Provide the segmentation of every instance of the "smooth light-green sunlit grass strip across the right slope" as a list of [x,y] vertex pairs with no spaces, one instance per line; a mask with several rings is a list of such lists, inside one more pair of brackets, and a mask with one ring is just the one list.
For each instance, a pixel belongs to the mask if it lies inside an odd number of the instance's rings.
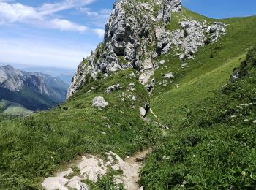
[[179,126],[186,117],[187,110],[197,107],[197,104],[204,99],[214,96],[215,91],[227,83],[233,69],[244,57],[241,55],[233,58],[217,69],[152,99],[151,107],[154,113],[168,126]]

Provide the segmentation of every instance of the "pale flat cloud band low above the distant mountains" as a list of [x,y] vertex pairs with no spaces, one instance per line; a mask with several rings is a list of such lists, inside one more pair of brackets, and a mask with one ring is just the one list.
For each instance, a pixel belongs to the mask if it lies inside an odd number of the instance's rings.
[[53,45],[31,39],[0,39],[0,62],[75,69],[94,45]]

